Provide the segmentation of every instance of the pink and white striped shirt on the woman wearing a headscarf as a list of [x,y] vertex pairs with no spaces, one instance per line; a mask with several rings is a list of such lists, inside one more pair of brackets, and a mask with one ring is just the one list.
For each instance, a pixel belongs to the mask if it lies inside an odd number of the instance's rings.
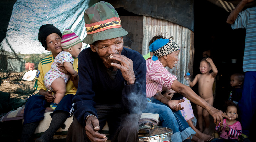
[[146,60],[147,74],[146,74],[146,93],[147,98],[153,97],[157,90],[162,91],[162,86],[170,89],[176,76],[172,75],[163,64],[159,61],[153,61],[152,58]]

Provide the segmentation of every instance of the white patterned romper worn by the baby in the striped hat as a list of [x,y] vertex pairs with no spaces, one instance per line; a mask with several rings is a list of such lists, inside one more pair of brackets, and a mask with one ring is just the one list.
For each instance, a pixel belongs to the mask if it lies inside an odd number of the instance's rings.
[[72,58],[72,55],[69,52],[60,52],[56,58],[54,59],[51,69],[45,74],[44,76],[44,85],[48,90],[54,91],[51,88],[52,82],[56,78],[62,78],[65,83],[67,83],[68,79],[70,78],[70,75],[67,75],[61,71],[58,70],[57,62],[64,63],[64,62],[71,62],[73,64],[74,59]]

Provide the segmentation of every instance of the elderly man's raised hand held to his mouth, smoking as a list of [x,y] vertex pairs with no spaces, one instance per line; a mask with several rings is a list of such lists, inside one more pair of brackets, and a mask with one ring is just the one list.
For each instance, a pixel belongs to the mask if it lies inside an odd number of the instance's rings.
[[133,62],[131,59],[125,57],[124,55],[119,55],[119,54],[111,54],[109,56],[111,60],[116,60],[119,62],[117,63],[111,63],[111,65],[114,68],[118,68],[121,70],[122,75],[124,79],[127,81],[127,84],[134,84],[135,82],[135,75],[133,71]]

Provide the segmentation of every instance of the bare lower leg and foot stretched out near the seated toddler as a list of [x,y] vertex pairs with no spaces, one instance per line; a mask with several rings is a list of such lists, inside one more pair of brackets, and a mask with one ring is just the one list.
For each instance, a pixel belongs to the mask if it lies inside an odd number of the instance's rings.
[[204,141],[211,141],[214,138],[211,135],[204,134],[200,132],[198,129],[196,129],[191,119],[189,119],[187,122],[189,126],[196,132],[196,134],[192,137],[192,141],[204,142]]

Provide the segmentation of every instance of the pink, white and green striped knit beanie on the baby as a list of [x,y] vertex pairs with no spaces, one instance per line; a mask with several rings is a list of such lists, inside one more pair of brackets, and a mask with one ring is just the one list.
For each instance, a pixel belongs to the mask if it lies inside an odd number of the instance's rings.
[[81,39],[76,35],[76,33],[72,32],[70,29],[65,29],[65,31],[62,33],[62,38],[61,38],[62,49],[67,49],[80,42],[82,42]]

